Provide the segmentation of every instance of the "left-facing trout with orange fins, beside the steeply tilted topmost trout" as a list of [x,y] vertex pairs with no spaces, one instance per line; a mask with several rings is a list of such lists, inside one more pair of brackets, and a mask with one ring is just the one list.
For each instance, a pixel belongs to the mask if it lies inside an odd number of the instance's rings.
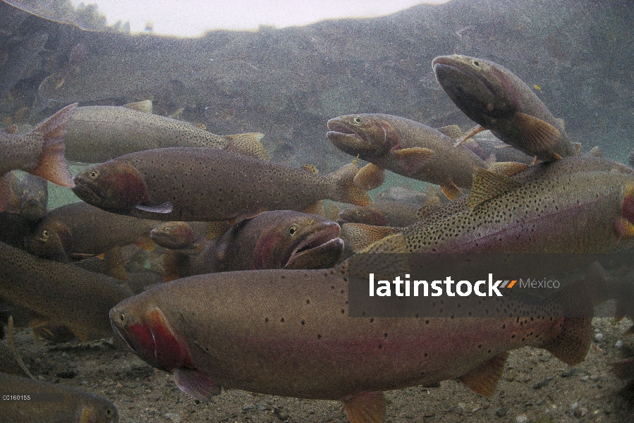
[[382,171],[388,169],[440,185],[453,200],[462,194],[459,188],[470,188],[474,168],[487,167],[470,149],[454,147],[453,139],[441,131],[400,116],[339,116],[328,121],[328,129],[326,136],[335,147],[370,161],[355,179],[363,188],[380,185],[365,181],[382,182]]

